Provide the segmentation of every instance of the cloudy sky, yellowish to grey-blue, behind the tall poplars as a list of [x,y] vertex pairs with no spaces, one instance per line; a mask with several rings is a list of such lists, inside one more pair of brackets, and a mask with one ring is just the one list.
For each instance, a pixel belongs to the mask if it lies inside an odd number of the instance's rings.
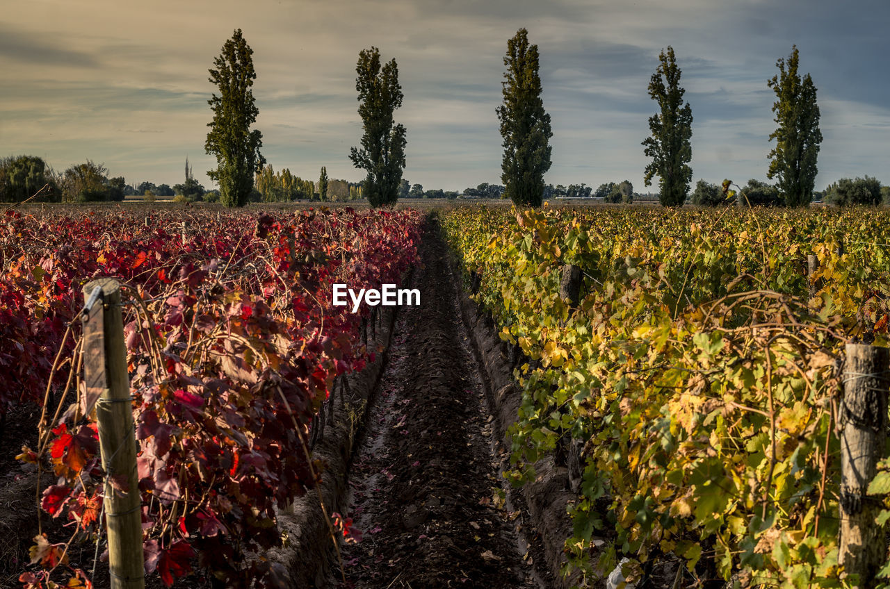
[[[0,21],[0,157],[56,170],[90,158],[127,182],[182,182],[204,153],[207,80],[243,29],[254,49],[263,155],[317,179],[358,181],[355,62],[380,48],[399,64],[405,177],[425,188],[500,183],[506,41],[538,44],[552,119],[546,182],[629,179],[644,191],[647,85],[673,45],[692,105],[694,179],[765,179],[773,131],[766,80],[791,45],[818,89],[824,136],[816,188],[870,174],[890,183],[886,0],[28,0]],[[651,190],[655,190],[654,188]]]

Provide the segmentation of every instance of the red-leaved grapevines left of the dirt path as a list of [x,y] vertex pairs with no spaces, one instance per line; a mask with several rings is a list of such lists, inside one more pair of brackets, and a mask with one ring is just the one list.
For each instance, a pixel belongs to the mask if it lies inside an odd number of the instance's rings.
[[307,426],[336,379],[375,353],[360,333],[370,310],[333,306],[331,285],[398,282],[417,263],[422,224],[413,211],[350,208],[7,211],[0,412],[43,404],[38,443],[20,460],[52,464],[38,475],[54,480],[41,507],[70,522],[69,536],[36,538],[41,568],[21,575],[24,586],[88,585],[69,546],[101,531],[107,473],[80,370],[86,282],[124,288],[146,572],[170,585],[197,556],[226,586],[273,585],[270,561],[247,555],[280,545],[273,507],[319,476]]

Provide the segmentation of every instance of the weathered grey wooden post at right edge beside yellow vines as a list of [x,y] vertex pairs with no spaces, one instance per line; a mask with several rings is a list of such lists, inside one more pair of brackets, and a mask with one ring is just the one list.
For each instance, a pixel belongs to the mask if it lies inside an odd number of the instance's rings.
[[860,587],[874,586],[887,545],[875,523],[880,504],[867,495],[878,460],[884,457],[890,348],[847,343],[840,439],[840,557]]

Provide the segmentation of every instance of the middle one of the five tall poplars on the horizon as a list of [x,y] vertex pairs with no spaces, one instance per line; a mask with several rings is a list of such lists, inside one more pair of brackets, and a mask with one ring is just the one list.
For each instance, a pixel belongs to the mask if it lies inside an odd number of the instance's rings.
[[520,28],[506,43],[506,72],[498,107],[504,138],[501,181],[505,197],[516,205],[540,206],[544,198],[544,173],[550,169],[550,115],[541,100],[538,77],[538,45],[529,44],[529,32]]

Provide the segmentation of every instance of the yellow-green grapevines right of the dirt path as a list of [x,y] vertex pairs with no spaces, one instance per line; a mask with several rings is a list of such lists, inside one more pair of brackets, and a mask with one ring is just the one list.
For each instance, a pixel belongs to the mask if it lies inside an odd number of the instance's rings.
[[885,214],[482,206],[442,224],[519,358],[510,476],[580,450],[565,549],[588,582],[675,554],[699,583],[857,585],[838,566],[837,391],[845,343],[886,346]]

